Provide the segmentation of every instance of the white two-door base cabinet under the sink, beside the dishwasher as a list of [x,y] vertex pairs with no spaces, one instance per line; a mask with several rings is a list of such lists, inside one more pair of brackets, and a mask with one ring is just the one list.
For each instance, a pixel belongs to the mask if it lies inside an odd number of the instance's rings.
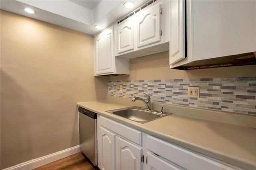
[[98,167],[101,170],[142,170],[141,132],[98,116]]

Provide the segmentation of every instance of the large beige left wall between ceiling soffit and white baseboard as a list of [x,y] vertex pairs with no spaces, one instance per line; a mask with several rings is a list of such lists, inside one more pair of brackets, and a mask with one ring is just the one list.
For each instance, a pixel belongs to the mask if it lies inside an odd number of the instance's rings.
[[103,100],[93,37],[1,10],[1,169],[74,147],[76,102]]

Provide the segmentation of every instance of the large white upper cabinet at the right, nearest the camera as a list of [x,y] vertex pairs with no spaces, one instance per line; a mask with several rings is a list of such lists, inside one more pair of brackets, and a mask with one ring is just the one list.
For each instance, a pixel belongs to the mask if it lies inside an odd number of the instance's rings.
[[186,33],[183,2],[170,3],[170,68],[206,59],[228,63],[232,57],[226,56],[256,51],[256,1],[186,0]]

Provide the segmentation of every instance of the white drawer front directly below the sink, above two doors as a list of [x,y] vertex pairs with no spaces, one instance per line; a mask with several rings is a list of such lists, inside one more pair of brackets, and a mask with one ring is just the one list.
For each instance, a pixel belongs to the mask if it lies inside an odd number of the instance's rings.
[[117,123],[116,121],[112,121],[103,116],[98,116],[98,123],[100,123],[101,126],[106,127],[107,129],[113,131],[114,133],[126,139],[129,139],[130,141],[138,145],[141,145],[142,143],[141,142],[142,132],[140,131],[132,129],[121,123]]

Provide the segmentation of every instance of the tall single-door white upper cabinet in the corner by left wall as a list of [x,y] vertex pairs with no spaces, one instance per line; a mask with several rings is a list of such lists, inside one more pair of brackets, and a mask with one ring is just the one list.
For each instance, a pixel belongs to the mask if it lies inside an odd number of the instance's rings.
[[94,37],[94,76],[130,74],[129,59],[114,57],[113,26]]

